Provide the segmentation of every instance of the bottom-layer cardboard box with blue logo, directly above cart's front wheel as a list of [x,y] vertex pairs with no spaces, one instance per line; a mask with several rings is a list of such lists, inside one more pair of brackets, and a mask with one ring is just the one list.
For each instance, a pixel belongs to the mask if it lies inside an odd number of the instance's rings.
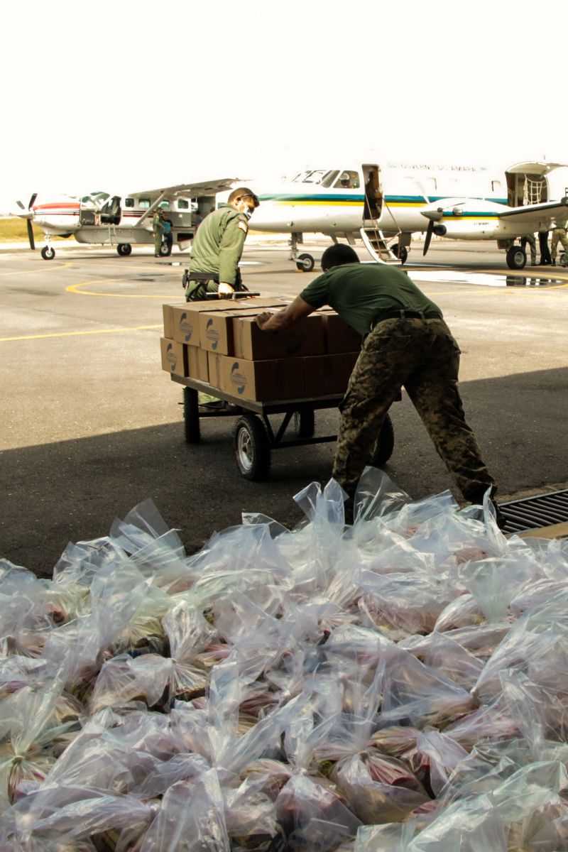
[[305,395],[303,360],[250,361],[209,352],[209,383],[243,400],[297,400]]

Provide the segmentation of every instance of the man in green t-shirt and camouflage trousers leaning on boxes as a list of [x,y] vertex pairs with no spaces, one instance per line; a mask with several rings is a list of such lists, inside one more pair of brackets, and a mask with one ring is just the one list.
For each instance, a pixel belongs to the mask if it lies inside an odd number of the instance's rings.
[[[496,492],[496,483],[465,422],[457,389],[460,349],[438,305],[401,269],[362,264],[349,245],[326,249],[322,269],[324,274],[288,308],[278,314],[259,314],[256,323],[263,331],[281,331],[330,305],[364,335],[341,401],[334,479],[353,498],[385,415],[404,385],[464,498],[483,504],[488,489],[491,497]],[[502,526],[504,519],[497,508],[496,515]]]

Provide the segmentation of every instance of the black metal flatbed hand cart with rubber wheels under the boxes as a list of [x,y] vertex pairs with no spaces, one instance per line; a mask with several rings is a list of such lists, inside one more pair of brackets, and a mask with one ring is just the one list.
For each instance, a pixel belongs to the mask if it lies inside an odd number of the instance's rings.
[[[170,377],[174,382],[183,385],[185,437],[188,444],[198,444],[201,440],[200,420],[205,417],[238,418],[233,432],[234,450],[238,470],[244,479],[255,481],[267,479],[273,450],[281,450],[288,446],[322,444],[337,439],[337,435],[314,435],[315,412],[318,409],[336,408],[343,399],[343,394],[318,396],[309,400],[255,402],[227,394],[198,379],[173,374],[170,374]],[[215,396],[225,405],[217,408],[200,406],[198,401],[200,391]],[[274,433],[270,417],[278,414],[283,414],[284,417]],[[295,437],[283,440],[284,433],[292,422]],[[387,414],[381,434],[376,440],[370,464],[374,467],[382,467],[391,458],[393,447],[393,423]]]

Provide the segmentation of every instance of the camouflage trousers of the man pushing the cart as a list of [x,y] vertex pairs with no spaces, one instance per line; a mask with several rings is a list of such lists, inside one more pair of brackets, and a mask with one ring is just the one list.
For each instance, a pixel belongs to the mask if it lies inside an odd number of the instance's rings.
[[404,389],[463,497],[493,486],[457,389],[460,350],[442,319],[383,320],[365,338],[341,401],[333,476],[353,497],[388,409]]

